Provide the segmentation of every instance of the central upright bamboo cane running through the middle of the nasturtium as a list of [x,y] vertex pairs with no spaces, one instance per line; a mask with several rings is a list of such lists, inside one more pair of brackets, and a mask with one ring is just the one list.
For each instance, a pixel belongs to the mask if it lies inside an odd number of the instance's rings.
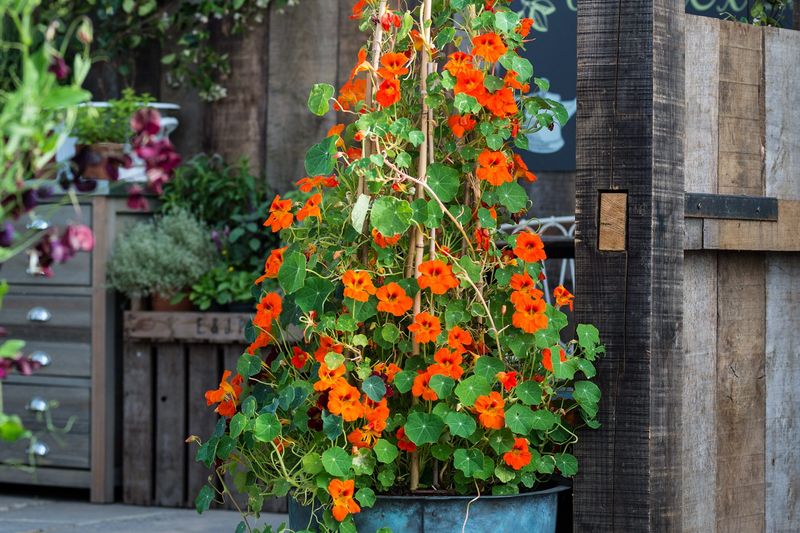
[[[422,98],[422,113],[420,115],[421,124],[420,129],[422,130],[422,134],[424,135],[424,139],[422,144],[420,145],[419,150],[419,161],[417,165],[417,177],[422,182],[425,183],[426,175],[428,174],[428,142],[430,138],[430,109],[428,109],[428,105],[425,103],[425,97],[428,95],[428,63],[430,60],[430,49],[428,48],[430,39],[431,39],[431,29],[430,29],[430,22],[431,22],[431,3],[432,0],[423,0],[422,4],[422,30],[420,33],[422,34],[422,57],[420,58],[420,67],[419,67],[419,88],[420,88],[420,97]],[[418,186],[416,191],[417,198],[424,198],[425,197],[425,190],[424,187]],[[423,236],[422,229],[417,229],[414,235],[414,242],[415,242],[415,250],[414,250],[414,276],[419,277],[419,265],[422,264],[423,255],[425,254],[425,240]],[[422,307],[422,293],[418,291],[417,294],[414,296],[414,316],[419,314],[420,309]],[[411,345],[411,353],[412,355],[419,355],[419,343],[417,341],[413,341]],[[412,452],[411,454],[411,482],[410,482],[410,489],[411,491],[415,491],[419,488],[419,453]]]

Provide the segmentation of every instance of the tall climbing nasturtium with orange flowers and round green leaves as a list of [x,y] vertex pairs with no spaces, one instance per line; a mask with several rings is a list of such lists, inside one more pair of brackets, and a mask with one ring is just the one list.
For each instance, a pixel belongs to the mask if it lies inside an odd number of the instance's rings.
[[286,247],[264,277],[281,290],[262,291],[239,377],[207,398],[236,420],[199,452],[235,440],[217,472],[247,472],[251,512],[288,490],[352,531],[376,495],[514,494],[577,472],[603,347],[590,325],[563,335],[573,296],[546,303],[542,238],[501,230],[536,180],[517,139],[566,120],[530,95],[532,21],[507,3],[361,0],[371,37],[350,78],[311,90],[312,112],[351,120],[272,203],[265,231]]

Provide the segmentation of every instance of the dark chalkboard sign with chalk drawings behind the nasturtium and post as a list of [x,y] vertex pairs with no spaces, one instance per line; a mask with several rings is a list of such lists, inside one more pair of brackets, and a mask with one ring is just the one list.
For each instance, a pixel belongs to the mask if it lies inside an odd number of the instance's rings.
[[[512,9],[534,20],[524,56],[533,63],[535,75],[550,80],[550,92],[543,95],[559,100],[570,120],[553,131],[528,136],[525,163],[534,171],[575,170],[575,85],[577,82],[577,4],[580,0],[514,0]],[[747,17],[753,0],[686,0],[686,12],[714,18]],[[788,7],[783,25],[791,25]]]

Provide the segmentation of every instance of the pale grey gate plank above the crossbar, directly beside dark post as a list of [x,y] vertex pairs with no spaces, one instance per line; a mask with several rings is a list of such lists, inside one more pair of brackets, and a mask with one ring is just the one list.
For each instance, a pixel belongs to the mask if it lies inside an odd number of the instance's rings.
[[719,150],[719,21],[686,15],[684,169],[687,192],[716,192]]

